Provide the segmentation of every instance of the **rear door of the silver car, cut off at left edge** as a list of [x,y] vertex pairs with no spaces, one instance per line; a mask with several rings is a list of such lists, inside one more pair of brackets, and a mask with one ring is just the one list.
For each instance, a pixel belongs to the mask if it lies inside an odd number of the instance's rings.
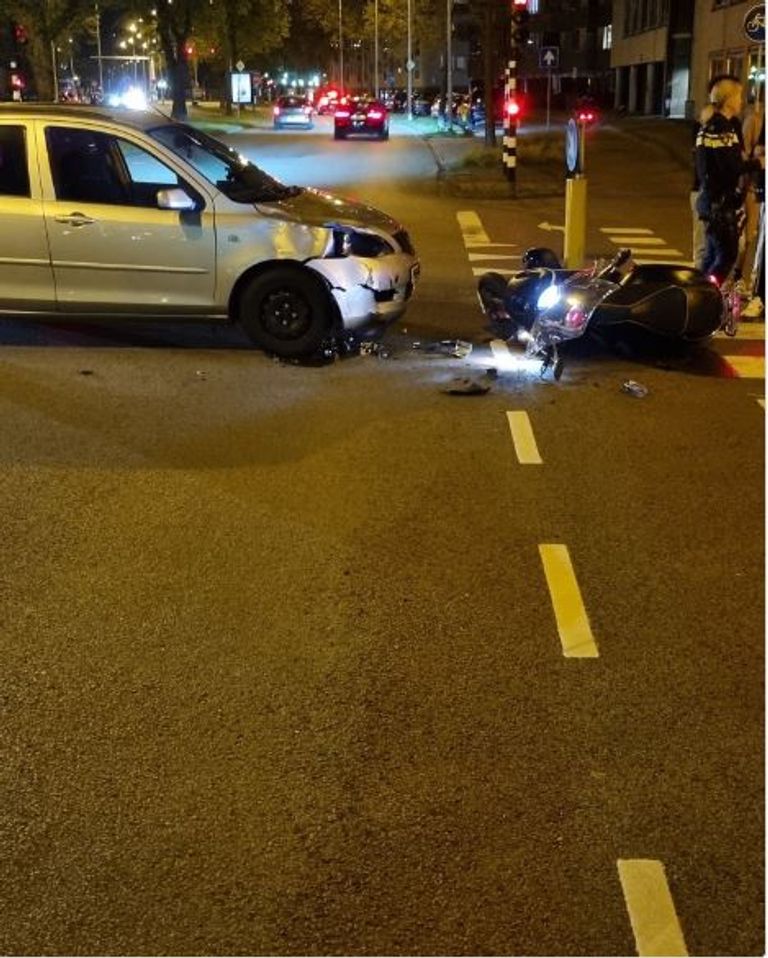
[[10,312],[56,308],[32,130],[0,118],[0,310]]

